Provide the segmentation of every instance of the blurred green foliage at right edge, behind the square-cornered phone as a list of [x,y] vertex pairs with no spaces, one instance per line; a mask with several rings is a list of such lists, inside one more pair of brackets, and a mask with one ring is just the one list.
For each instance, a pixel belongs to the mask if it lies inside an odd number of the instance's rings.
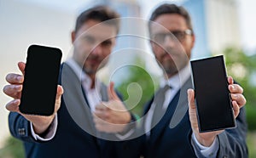
[[224,50],[228,75],[241,84],[247,99],[248,129],[256,129],[256,54],[248,56],[241,49],[226,48]]

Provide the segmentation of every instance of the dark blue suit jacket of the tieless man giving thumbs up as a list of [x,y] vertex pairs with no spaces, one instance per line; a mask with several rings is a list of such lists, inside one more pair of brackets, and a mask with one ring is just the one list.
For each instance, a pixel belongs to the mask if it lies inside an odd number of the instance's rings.
[[[10,133],[23,141],[26,157],[114,157],[112,142],[91,135],[96,134],[96,129],[79,78],[66,64],[61,65],[60,74],[60,84],[65,93],[57,113],[58,127],[55,137],[47,142],[35,140],[32,138],[29,121],[14,112],[9,113]],[[80,116],[79,119],[74,115]]]

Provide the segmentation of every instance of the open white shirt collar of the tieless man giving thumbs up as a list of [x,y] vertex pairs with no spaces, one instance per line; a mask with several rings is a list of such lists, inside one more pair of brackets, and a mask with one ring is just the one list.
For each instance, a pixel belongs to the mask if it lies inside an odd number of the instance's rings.
[[[76,76],[79,77],[79,80],[83,82],[84,88],[86,91],[90,91],[90,85],[91,85],[91,79],[90,76],[88,76],[84,71],[82,70],[81,66],[72,58],[67,59],[66,64],[71,67],[71,69],[74,71]],[[101,82],[96,79],[96,89],[100,89]]]

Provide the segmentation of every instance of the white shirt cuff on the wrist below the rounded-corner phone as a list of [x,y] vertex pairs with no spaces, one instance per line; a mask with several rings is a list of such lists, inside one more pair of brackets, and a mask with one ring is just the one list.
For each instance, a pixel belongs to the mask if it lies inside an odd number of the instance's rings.
[[49,125],[49,128],[47,129],[48,132],[45,133],[44,137],[40,137],[37,133],[35,133],[33,126],[32,126],[32,122],[30,122],[32,137],[35,138],[35,140],[40,140],[40,141],[51,140],[52,138],[55,137],[55,133],[57,131],[57,124],[58,124],[58,119],[57,119],[57,114],[56,114],[54,120],[51,122],[51,124]]

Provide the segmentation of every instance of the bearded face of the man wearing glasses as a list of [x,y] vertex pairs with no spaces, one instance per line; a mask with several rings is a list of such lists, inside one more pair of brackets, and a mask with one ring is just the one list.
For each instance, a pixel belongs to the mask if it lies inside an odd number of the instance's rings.
[[170,77],[189,63],[195,37],[179,14],[161,14],[154,22],[149,25],[153,40],[151,47],[155,58]]

